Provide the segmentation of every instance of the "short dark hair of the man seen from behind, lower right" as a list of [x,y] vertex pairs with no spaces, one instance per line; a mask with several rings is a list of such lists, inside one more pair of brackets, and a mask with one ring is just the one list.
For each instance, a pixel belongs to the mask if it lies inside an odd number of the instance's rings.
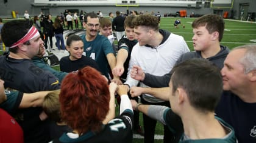
[[172,69],[172,93],[183,88],[192,107],[202,112],[214,111],[222,93],[220,69],[207,59],[189,59]]

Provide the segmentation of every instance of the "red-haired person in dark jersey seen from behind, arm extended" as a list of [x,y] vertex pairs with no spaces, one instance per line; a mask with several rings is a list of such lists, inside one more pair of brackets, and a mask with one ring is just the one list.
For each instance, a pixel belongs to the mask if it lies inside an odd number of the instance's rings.
[[[120,116],[115,117],[115,91],[91,67],[69,73],[62,81],[59,95],[63,121],[73,128],[53,142],[132,142],[133,111],[127,87],[120,85]],[[113,119],[114,118],[114,119]]]

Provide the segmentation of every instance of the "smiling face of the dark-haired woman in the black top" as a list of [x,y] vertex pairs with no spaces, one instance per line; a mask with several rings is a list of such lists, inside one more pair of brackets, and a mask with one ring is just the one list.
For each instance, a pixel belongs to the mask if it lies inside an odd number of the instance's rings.
[[72,41],[70,46],[67,46],[66,49],[70,53],[69,59],[71,61],[76,61],[77,59],[82,58],[82,54],[84,52],[84,42]]

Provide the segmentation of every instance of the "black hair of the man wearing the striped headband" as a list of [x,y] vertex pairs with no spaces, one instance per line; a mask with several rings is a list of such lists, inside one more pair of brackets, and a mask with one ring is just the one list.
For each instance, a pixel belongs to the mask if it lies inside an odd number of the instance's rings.
[[[7,47],[10,47],[15,42],[19,41],[23,36],[27,34],[30,27],[32,27],[33,21],[31,20],[12,20],[6,22],[1,30],[2,41]],[[14,48],[9,48],[10,52],[13,52]]]

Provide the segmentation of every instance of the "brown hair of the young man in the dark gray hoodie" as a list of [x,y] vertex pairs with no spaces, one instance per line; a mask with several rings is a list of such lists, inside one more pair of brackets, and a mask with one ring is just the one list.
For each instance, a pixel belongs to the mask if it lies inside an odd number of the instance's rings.
[[223,37],[224,28],[225,28],[225,22],[219,15],[210,14],[210,15],[204,15],[200,18],[197,18],[193,21],[192,27],[197,28],[201,26],[206,26],[205,28],[208,30],[208,32],[211,34],[213,32],[219,33],[219,42],[221,42],[221,39]]

